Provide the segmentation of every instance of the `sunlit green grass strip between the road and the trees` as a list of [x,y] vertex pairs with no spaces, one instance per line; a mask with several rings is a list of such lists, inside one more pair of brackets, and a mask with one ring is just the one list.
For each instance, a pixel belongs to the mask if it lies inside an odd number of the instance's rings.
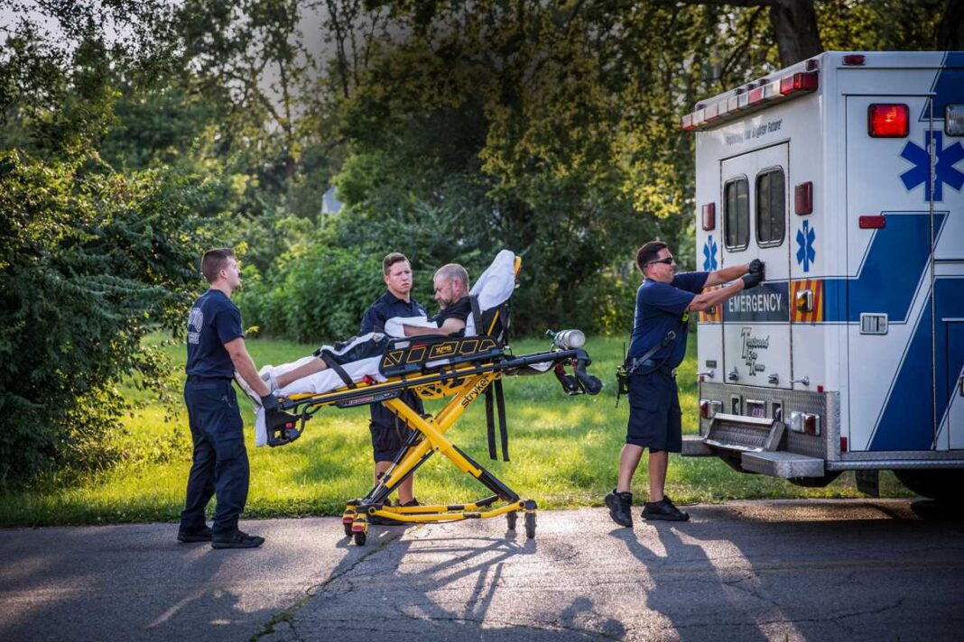
[[[162,343],[159,337],[151,342]],[[681,368],[681,403],[686,432],[696,432],[695,341]],[[308,354],[313,347],[281,341],[251,340],[256,364],[282,363]],[[520,341],[516,354],[545,349],[546,340]],[[178,371],[184,347],[165,346]],[[622,340],[594,338],[587,349],[595,360],[591,372],[605,382],[598,397],[566,397],[549,372],[506,381],[510,462],[490,462],[486,441],[485,405],[473,404],[448,433],[523,497],[548,508],[601,505],[616,478],[616,460],[626,434],[624,398],[613,407],[613,372],[622,358]],[[44,526],[119,522],[173,521],[184,499],[191,466],[186,412],[168,417],[147,393],[126,389],[145,402],[126,420],[123,446],[137,456],[117,468],[79,480],[48,478],[34,487],[0,496],[0,525]],[[254,448],[254,415],[243,395],[246,440],[251,459],[251,492],[247,517],[337,515],[344,501],[362,497],[371,484],[371,446],[366,407],[324,408],[308,423],[304,436],[279,448]],[[429,402],[429,412],[442,402]],[[636,474],[637,497],[645,494],[645,457]],[[415,493],[420,501],[452,503],[488,493],[442,457],[419,470]],[[853,476],[844,474],[826,488],[806,489],[762,475],[741,475],[716,459],[674,455],[667,493],[675,501],[720,502],[760,498],[860,497]],[[907,495],[897,479],[881,475],[881,494]],[[213,502],[212,502],[213,505]]]

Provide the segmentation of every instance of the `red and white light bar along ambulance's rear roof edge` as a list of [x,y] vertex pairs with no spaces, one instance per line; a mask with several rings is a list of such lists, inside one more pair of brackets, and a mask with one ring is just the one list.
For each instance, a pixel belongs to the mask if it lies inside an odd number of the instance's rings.
[[814,71],[794,71],[781,78],[748,83],[728,92],[721,99],[696,104],[696,110],[680,119],[683,131],[707,129],[737,114],[755,112],[763,107],[816,91],[819,75]]

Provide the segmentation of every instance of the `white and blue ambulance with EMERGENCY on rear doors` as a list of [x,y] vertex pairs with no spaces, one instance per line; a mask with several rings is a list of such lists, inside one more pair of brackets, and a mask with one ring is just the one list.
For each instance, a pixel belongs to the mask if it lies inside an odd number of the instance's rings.
[[871,493],[894,470],[956,496],[964,52],[826,52],[701,101],[683,129],[697,269],[759,257],[766,274],[700,315],[684,453],[805,485],[854,470]]

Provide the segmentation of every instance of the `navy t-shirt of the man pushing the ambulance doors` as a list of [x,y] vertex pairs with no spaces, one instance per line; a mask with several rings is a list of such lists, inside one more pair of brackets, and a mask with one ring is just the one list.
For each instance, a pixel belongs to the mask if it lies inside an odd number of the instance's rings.
[[669,346],[660,348],[650,358],[666,359],[665,365],[676,368],[686,355],[686,328],[680,327],[683,312],[693,297],[703,291],[710,272],[682,272],[673,277],[673,283],[646,279],[636,291],[636,312],[629,339],[629,358],[641,357],[666,337],[676,332],[676,339]]

